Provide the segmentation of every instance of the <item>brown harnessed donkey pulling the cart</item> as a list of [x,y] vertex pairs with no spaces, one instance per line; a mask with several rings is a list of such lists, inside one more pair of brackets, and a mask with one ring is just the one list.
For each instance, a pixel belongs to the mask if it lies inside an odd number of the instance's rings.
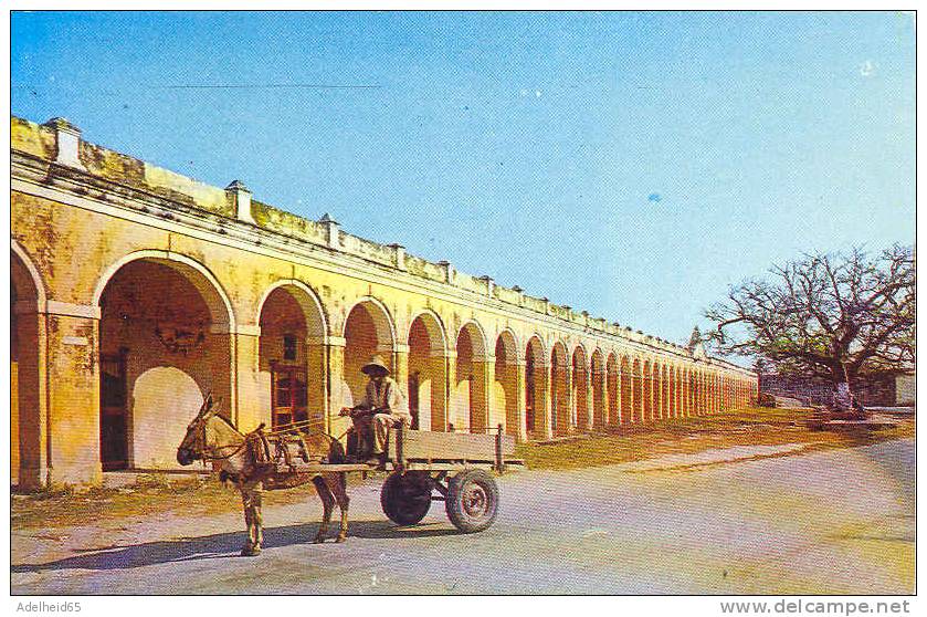
[[[220,478],[231,480],[241,491],[244,505],[244,522],[247,526],[247,540],[241,551],[242,556],[253,557],[261,554],[263,543],[263,521],[261,500],[264,489],[277,490],[299,487],[312,482],[322,500],[323,517],[314,542],[325,541],[331,511],[335,503],[341,511],[341,526],[335,542],[344,542],[348,534],[348,494],[344,472],[278,473],[255,463],[252,449],[244,435],[232,423],[217,414],[218,407],[208,395],[187,435],[177,449],[177,462],[189,466],[196,460],[213,462],[220,469]],[[338,462],[344,457],[341,445],[327,435],[305,437],[309,457],[320,460],[328,457],[329,462]]]

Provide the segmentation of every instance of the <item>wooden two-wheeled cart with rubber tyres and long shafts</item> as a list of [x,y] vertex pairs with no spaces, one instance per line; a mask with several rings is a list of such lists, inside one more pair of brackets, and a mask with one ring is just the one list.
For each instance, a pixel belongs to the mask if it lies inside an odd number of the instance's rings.
[[[499,489],[494,473],[518,469],[515,438],[499,426],[492,435],[393,429],[380,464],[280,463],[280,472],[385,471],[380,504],[390,521],[414,525],[433,501],[443,501],[447,519],[460,531],[488,529],[496,519]],[[295,458],[295,457],[294,457]],[[292,459],[291,459],[292,460]]]

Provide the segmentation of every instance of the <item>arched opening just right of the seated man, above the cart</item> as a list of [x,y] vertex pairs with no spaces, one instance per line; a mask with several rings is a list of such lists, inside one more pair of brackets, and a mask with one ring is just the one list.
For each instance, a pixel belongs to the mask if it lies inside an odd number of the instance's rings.
[[444,328],[433,313],[409,327],[409,412],[412,428],[447,430],[447,358]]

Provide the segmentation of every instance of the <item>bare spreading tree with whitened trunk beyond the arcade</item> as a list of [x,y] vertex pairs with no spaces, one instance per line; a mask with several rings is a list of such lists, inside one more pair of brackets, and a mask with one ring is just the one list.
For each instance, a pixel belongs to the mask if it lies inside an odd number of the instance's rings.
[[873,259],[858,248],[805,254],[769,272],[771,280],[741,283],[705,312],[717,323],[708,338],[720,353],[826,378],[843,409],[852,384],[913,366],[912,248],[896,244]]

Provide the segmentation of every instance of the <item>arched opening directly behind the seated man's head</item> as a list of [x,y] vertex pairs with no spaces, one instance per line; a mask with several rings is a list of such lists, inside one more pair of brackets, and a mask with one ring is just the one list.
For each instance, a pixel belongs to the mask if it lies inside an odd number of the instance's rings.
[[[360,372],[375,355],[379,355],[396,377],[393,363],[393,326],[386,308],[373,300],[355,304],[345,321],[345,372],[344,379],[350,397],[347,406],[364,398],[367,377]],[[404,387],[405,384],[399,384]]]

